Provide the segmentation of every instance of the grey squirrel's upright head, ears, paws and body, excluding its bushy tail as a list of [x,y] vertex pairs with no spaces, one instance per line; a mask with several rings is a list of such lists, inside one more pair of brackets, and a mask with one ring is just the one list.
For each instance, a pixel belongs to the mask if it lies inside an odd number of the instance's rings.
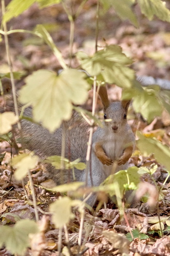
[[[99,186],[112,174],[114,161],[115,172],[126,170],[128,160],[135,147],[135,136],[127,123],[127,111],[130,101],[109,102],[106,87],[100,87],[99,96],[103,103],[103,128],[98,127],[92,136],[91,177],[88,174],[88,186]],[[92,195],[87,203],[91,206],[96,201]]]

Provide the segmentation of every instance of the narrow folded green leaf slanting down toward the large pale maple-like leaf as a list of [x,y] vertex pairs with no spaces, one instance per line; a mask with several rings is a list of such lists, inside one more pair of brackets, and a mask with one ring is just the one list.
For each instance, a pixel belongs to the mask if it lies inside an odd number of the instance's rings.
[[35,34],[37,34],[38,36],[40,36],[41,38],[44,39],[46,44],[48,46],[50,46],[50,48],[53,50],[56,58],[58,59],[59,63],[63,67],[63,69],[66,69],[67,66],[63,60],[62,54],[59,51],[59,49],[56,47],[56,45],[54,44],[54,41],[52,40],[51,35],[48,33],[48,31],[45,29],[45,27],[43,25],[37,25],[36,29],[35,29]]

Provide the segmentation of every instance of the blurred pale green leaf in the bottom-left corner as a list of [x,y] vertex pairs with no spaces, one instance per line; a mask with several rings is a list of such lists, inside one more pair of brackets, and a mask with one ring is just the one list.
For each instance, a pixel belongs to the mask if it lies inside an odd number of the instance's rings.
[[29,246],[29,234],[38,232],[37,224],[29,219],[17,222],[13,227],[0,226],[0,247],[5,244],[12,254],[23,255]]

